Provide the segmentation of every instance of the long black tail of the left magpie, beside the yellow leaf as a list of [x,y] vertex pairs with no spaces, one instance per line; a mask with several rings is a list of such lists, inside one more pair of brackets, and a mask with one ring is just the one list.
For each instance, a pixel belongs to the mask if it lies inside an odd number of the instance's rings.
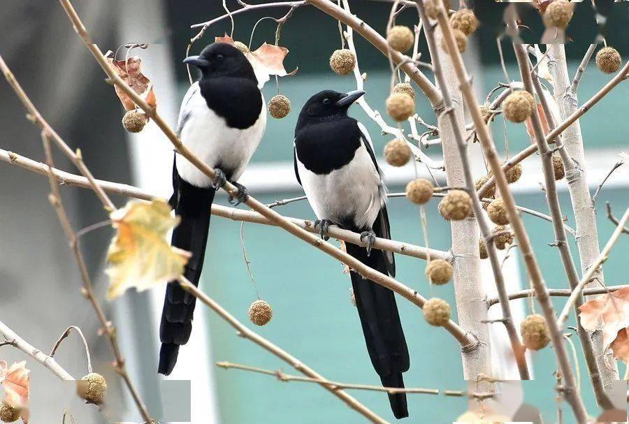
[[[192,284],[198,286],[198,279],[201,277],[203,268],[205,245],[208,243],[210,210],[216,191],[211,188],[194,187],[179,178],[176,172],[175,170],[173,177],[175,193],[171,203],[175,208],[175,214],[181,217],[181,222],[173,230],[171,244],[192,253],[184,275]],[[164,310],[161,312],[159,326],[161,349],[158,372],[160,374],[171,374],[177,363],[179,346],[186,344],[190,338],[195,301],[194,296],[177,284],[166,286]]]

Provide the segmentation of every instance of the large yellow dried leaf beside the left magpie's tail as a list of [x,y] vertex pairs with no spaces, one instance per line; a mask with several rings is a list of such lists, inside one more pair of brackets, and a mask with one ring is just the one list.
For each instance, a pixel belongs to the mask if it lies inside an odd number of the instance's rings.
[[166,241],[168,231],[179,224],[168,203],[129,202],[110,218],[117,233],[107,254],[108,298],[117,298],[130,287],[144,291],[183,274],[190,253]]

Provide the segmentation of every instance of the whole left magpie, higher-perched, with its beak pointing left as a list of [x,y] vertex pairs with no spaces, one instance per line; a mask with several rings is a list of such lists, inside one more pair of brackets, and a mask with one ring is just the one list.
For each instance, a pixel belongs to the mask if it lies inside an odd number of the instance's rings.
[[[236,181],[264,133],[266,106],[250,62],[233,45],[208,45],[184,62],[201,70],[201,80],[182,101],[177,133],[182,143],[217,173],[211,180],[175,154],[171,205],[181,222],[173,231],[171,244],[191,252],[184,275],[198,286],[215,193],[229,181],[238,187],[237,202],[247,200],[247,189]],[[166,287],[159,327],[161,374],[171,374],[179,346],[188,342],[195,300],[176,284]]]

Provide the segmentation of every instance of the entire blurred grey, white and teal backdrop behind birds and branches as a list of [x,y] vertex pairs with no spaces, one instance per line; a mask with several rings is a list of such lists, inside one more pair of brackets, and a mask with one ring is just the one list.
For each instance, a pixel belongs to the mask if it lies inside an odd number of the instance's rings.
[[[76,0],[74,6],[103,51],[116,50],[129,42],[149,44],[147,50],[134,50],[133,54],[143,58],[145,74],[155,85],[159,112],[174,125],[179,102],[189,87],[182,64],[189,38],[196,34],[189,30],[189,26],[223,15],[221,3],[217,0]],[[226,3],[232,9],[238,7],[236,1]],[[351,6],[359,17],[377,31],[384,32],[390,5],[352,0]],[[607,43],[626,58],[629,55],[627,7],[620,4],[616,7],[617,13],[609,20]],[[275,24],[272,20],[259,22],[253,36],[252,27],[261,17],[281,17],[286,11],[286,8],[273,8],[236,15],[233,36],[245,43],[251,38],[252,48],[264,41],[273,43]],[[399,24],[412,26],[415,22],[417,13],[413,8],[398,17]],[[571,24],[572,41],[566,47],[571,73],[593,40],[592,22],[591,15],[581,14]],[[152,123],[138,136],[124,132],[120,125],[124,111],[112,87],[103,82],[100,68],[75,35],[62,8],[56,2],[4,1],[0,24],[0,54],[50,124],[71,147],[82,150],[85,163],[94,175],[103,180],[136,184],[156,196],[170,196],[171,145]],[[536,25],[530,29],[530,34],[540,29],[539,22]],[[204,45],[212,43],[215,36],[222,36],[230,29],[229,20],[212,25],[191,52],[197,53]],[[241,180],[256,198],[267,203],[302,193],[294,178],[291,150],[294,124],[301,105],[321,89],[348,91],[355,88],[353,75],[340,77],[328,67],[328,57],[340,48],[337,22],[331,17],[312,7],[298,8],[284,25],[280,45],[291,51],[285,61],[287,69],[290,71],[298,66],[299,71],[293,77],[281,78],[279,88],[275,81],[267,82],[263,93],[268,99],[279,89],[290,98],[292,111],[282,120],[269,118],[266,135]],[[366,98],[373,108],[382,110],[389,92],[389,63],[360,36],[356,36],[356,45],[361,72],[368,75]],[[509,78],[517,79],[509,44],[505,42],[503,47]],[[426,52],[424,41],[420,50]],[[125,53],[121,50],[121,54]],[[470,38],[465,61],[474,76],[479,98],[484,98],[498,82],[508,82],[500,68],[496,39],[491,29],[481,28]],[[581,103],[610,78],[591,64],[579,88]],[[584,165],[592,190],[619,159],[617,154],[629,149],[629,122],[626,119],[629,89],[626,84],[614,89],[581,119],[588,157],[588,163]],[[435,115],[421,94],[417,110],[426,122],[435,124]],[[380,154],[391,137],[382,136],[379,128],[358,106],[352,109],[352,115],[368,126],[375,150]],[[522,125],[505,124],[500,116],[493,122],[492,131],[501,154],[505,156],[530,143]],[[43,159],[38,130],[24,118],[22,106],[4,82],[0,82],[0,148],[38,161]],[[440,159],[440,147],[432,146],[426,152]],[[475,176],[479,177],[485,173],[482,155],[477,145],[470,146],[470,152],[475,162]],[[73,172],[62,155],[57,154],[55,159],[59,168]],[[386,165],[383,168],[393,192],[403,191],[406,182],[414,177],[412,165],[402,170],[393,170]],[[543,179],[539,157],[528,159],[523,168],[523,178],[512,186],[517,202],[548,213],[540,189]],[[417,164],[417,173],[428,177],[421,163]],[[444,181],[442,173],[436,172],[435,177]],[[559,182],[558,187],[563,213],[568,217],[567,224],[574,226],[565,180]],[[107,413],[120,421],[138,421],[125,389],[110,370],[110,350],[106,340],[97,336],[94,313],[80,295],[80,277],[48,202],[48,191],[45,178],[0,163],[0,320],[43,351],[50,349],[67,326],[81,326],[89,340],[96,370],[109,376],[111,403],[122,405],[108,409]],[[75,228],[106,219],[100,203],[90,191],[66,188],[63,195]],[[605,217],[605,200],[612,202],[618,212],[628,207],[629,168],[616,170],[597,200],[601,244],[613,230]],[[120,206],[126,199],[115,198],[115,201]],[[226,198],[222,196],[219,202],[226,203]],[[427,207],[428,237],[431,247],[448,249],[451,243],[449,225],[436,212],[436,204],[431,201]],[[308,219],[314,215],[305,202],[292,203],[278,210],[291,217]],[[393,238],[424,244],[417,207],[403,198],[396,198],[391,200],[389,214]],[[554,241],[551,225],[527,214],[523,219],[549,286],[565,288],[558,251],[549,247]],[[243,260],[241,231],[256,286],[252,284]],[[291,372],[266,351],[236,336],[229,326],[203,307],[197,308],[193,337],[189,346],[181,349],[175,372],[167,380],[158,377],[157,328],[164,288],[140,294],[130,291],[115,302],[106,302],[104,293],[108,281],[103,275],[104,254],[111,235],[108,229],[85,235],[82,239],[84,252],[97,291],[118,328],[132,377],[154,416],[164,422],[224,424],[362,422],[354,411],[315,385],[282,383],[273,377],[215,367],[216,361],[226,360]],[[570,240],[570,245],[576,252],[574,239]],[[627,283],[628,254],[629,242],[624,237],[605,265],[607,284]],[[261,335],[330,379],[379,384],[366,354],[356,310],[349,302],[349,278],[343,274],[340,263],[277,228],[254,224],[241,228],[238,222],[217,217],[212,219],[207,255],[202,288],[238,319],[248,322],[247,308],[256,299],[257,289],[259,296],[273,305],[275,314],[267,326],[255,329]],[[451,284],[428,286],[424,262],[398,256],[398,264],[401,282],[428,297],[438,296],[454,303]],[[512,250],[505,267],[511,289],[527,288],[517,249]],[[484,272],[488,275],[487,289],[492,293],[493,282],[488,270]],[[411,352],[411,368],[405,374],[407,386],[465,390],[460,354],[454,339],[446,332],[428,326],[419,309],[408,302],[398,300],[398,305]],[[512,305],[519,318],[530,313],[526,300],[514,301]],[[556,305],[563,305],[563,299],[556,300]],[[499,316],[494,308],[491,313]],[[502,328],[493,325],[490,330],[496,355],[504,357],[509,348]],[[572,338],[576,340],[576,337]],[[578,340],[576,343],[579,351]],[[85,356],[78,339],[70,337],[66,340],[56,358],[76,377],[86,374]],[[24,355],[10,346],[3,346],[0,359],[11,362],[24,359]],[[71,388],[64,388],[45,368],[26,359],[32,370],[31,421],[59,420],[64,409],[71,411],[78,423],[103,420],[94,409],[82,406],[71,395]],[[553,352],[550,348],[544,349],[531,359],[535,381],[524,385],[525,401],[535,404],[547,419],[553,420],[556,416]],[[497,360],[496,364],[497,374],[507,378],[515,375],[508,361]],[[595,413],[582,360],[579,360],[579,370],[582,394],[588,408]],[[386,395],[373,392],[354,395],[384,418],[393,419]],[[442,395],[409,395],[409,409],[412,421],[445,423],[465,411],[467,402],[463,398]],[[565,415],[570,416],[570,413]]]

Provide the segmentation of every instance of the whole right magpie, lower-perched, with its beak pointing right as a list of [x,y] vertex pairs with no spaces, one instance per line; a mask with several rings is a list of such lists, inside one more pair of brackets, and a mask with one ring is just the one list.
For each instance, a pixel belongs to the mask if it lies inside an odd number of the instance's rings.
[[[321,237],[332,224],[361,233],[367,246],[348,243],[347,253],[395,276],[393,254],[372,251],[376,236],[391,238],[382,171],[365,126],[347,116],[363,94],[325,90],[305,103],[295,128],[295,175],[317,215]],[[410,360],[393,291],[358,272],[349,275],[371,363],[384,386],[403,388]],[[396,418],[408,416],[404,393],[389,395],[389,402]]]

